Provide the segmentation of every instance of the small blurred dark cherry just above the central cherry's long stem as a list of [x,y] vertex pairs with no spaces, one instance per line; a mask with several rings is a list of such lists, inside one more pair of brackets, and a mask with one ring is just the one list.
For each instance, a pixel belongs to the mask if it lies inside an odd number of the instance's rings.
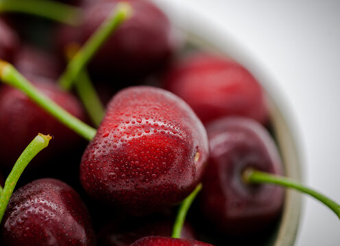
[[16,53],[13,65],[23,74],[58,79],[61,67],[56,57],[34,46],[24,45]]

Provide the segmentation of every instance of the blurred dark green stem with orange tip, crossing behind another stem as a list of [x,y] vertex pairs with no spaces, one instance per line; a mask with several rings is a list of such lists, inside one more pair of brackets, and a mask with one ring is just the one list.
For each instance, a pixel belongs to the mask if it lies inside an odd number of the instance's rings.
[[[66,57],[70,60],[79,51],[80,45],[76,43],[71,43],[66,47]],[[75,90],[82,100],[82,103],[90,116],[90,119],[95,124],[99,126],[101,120],[105,114],[104,105],[93,86],[92,81],[85,69],[81,70],[78,77],[75,79]]]

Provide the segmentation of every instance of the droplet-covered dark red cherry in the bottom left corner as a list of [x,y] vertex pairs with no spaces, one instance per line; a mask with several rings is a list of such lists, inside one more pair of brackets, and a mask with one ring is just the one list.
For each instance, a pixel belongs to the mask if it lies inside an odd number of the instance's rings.
[[35,180],[15,191],[1,223],[4,245],[95,245],[80,196],[60,180]]

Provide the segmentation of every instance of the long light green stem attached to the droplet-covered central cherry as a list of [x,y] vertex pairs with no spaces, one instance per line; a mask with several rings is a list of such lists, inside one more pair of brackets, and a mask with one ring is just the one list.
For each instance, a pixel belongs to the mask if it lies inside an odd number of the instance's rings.
[[5,84],[21,90],[21,92],[25,93],[31,100],[36,102],[37,105],[47,111],[47,113],[88,141],[95,137],[97,132],[95,128],[92,128],[91,126],[88,126],[88,124],[85,124],[81,120],[75,118],[71,115],[71,113],[56,104],[56,102],[39,92],[32,83],[27,81],[27,79],[25,79],[25,77],[23,77],[23,75],[14,68],[14,66],[9,64],[7,61],[1,61],[1,59],[0,80]]

